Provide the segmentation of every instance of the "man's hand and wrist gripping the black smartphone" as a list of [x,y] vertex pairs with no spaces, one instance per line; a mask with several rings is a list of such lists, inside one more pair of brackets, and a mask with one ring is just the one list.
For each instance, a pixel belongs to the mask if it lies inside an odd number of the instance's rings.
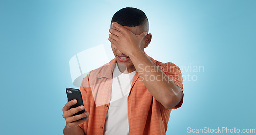
[[[78,106],[76,108],[69,109],[72,105],[74,105],[76,103],[77,103],[77,100],[75,100],[75,99],[71,100],[69,102],[67,100],[67,103],[65,104],[65,106],[62,109],[63,110],[63,115],[62,116],[66,121],[66,126],[63,130],[65,135],[68,135],[68,134],[84,135],[83,129],[80,128],[78,126],[78,124],[83,123],[83,122],[85,122],[89,119],[88,112],[86,111],[85,113],[73,116],[73,114],[75,114],[75,113],[77,113],[81,110],[84,110],[83,105]],[[81,118],[86,117],[86,116],[87,116],[86,119],[81,119]]]

